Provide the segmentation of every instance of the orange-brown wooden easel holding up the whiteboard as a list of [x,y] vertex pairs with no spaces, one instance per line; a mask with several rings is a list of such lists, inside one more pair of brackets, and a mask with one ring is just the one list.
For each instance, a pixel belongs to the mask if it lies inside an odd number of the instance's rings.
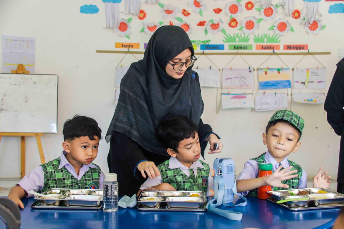
[[[19,64],[17,70],[12,70],[12,73],[16,74],[29,74],[30,71],[26,71],[24,65]],[[3,132],[0,133],[0,141],[2,136],[20,136],[20,177],[25,176],[25,136],[36,136],[38,151],[40,152],[41,163],[45,163],[43,147],[41,136],[43,133],[12,133],[12,132]]]

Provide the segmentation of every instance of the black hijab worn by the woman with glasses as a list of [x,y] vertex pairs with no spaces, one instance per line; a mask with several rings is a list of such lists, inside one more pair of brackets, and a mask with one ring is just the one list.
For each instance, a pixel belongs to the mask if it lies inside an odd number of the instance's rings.
[[168,61],[187,48],[193,56],[189,36],[179,26],[162,26],[154,32],[143,59],[132,63],[121,80],[107,142],[118,131],[151,152],[167,155],[155,137],[165,115],[185,115],[198,125],[204,104],[197,73],[189,67],[181,79],[174,79],[165,71]]

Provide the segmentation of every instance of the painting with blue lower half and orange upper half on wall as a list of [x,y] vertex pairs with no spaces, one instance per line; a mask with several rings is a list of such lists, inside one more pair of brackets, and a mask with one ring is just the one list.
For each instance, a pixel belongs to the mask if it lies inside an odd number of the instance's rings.
[[259,68],[257,71],[260,90],[291,87],[290,68]]

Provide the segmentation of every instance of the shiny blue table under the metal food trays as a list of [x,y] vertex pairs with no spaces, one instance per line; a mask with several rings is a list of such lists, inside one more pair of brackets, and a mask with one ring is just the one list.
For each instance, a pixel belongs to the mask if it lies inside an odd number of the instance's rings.
[[234,207],[243,213],[242,221],[233,221],[208,212],[139,211],[119,208],[117,213],[102,210],[32,209],[33,197],[23,198],[21,228],[330,228],[339,208],[290,211],[267,201],[247,198],[246,207]]

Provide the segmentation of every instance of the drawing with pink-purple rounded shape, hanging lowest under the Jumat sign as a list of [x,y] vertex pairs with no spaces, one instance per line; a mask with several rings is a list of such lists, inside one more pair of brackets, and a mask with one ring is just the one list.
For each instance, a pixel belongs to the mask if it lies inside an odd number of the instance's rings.
[[221,94],[222,109],[254,108],[253,94]]

